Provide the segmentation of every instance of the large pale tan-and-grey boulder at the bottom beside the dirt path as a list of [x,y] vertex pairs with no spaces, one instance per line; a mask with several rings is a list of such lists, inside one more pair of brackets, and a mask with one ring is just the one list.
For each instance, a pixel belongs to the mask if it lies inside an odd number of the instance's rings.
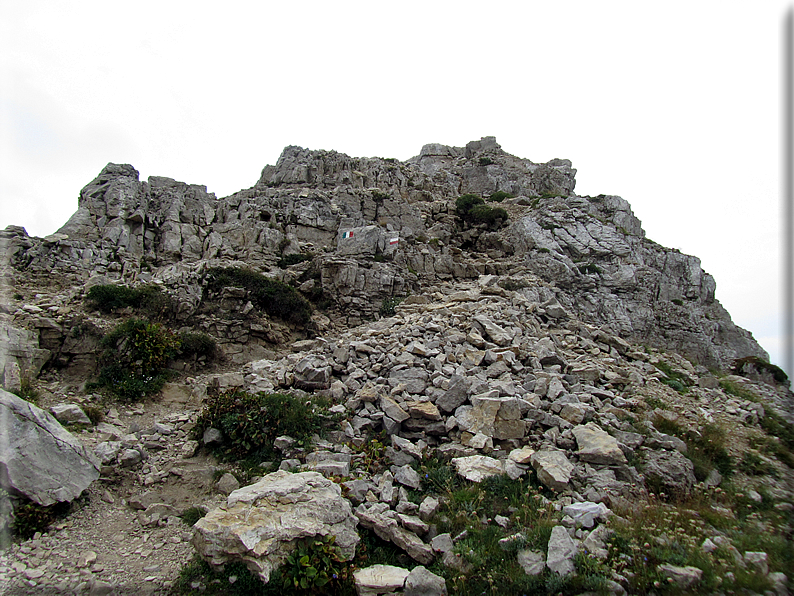
[[278,471],[234,491],[225,507],[200,519],[193,546],[210,564],[242,561],[267,583],[302,538],[335,536],[342,558],[352,559],[357,524],[337,484],[317,472]]

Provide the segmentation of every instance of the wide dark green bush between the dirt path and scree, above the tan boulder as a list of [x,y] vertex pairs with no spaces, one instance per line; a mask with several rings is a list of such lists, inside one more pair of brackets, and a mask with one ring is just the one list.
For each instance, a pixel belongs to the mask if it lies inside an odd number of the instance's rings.
[[324,402],[282,393],[233,391],[207,397],[193,429],[201,438],[210,427],[223,433],[220,448],[226,459],[254,458],[262,461],[277,457],[273,441],[281,435],[308,444],[312,434],[323,430],[330,418]]

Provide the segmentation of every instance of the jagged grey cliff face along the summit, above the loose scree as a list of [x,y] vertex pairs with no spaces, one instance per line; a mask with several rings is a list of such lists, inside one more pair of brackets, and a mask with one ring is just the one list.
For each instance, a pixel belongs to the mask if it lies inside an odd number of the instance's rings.
[[[108,164],[56,234],[9,227],[1,240],[17,275],[162,282],[184,319],[201,301],[197,276],[221,263],[322,290],[337,309],[332,319],[348,325],[377,316],[386,298],[494,274],[529,299],[706,365],[767,357],[715,300],[696,257],[647,239],[620,197],[577,196],[575,173],[568,160],[509,155],[492,137],[426,145],[406,162],[287,147],[253,187],[221,199]],[[496,191],[514,195],[488,203],[506,221],[472,223],[456,212],[461,195]],[[277,266],[297,253],[312,257],[308,282],[299,279],[305,267]]]

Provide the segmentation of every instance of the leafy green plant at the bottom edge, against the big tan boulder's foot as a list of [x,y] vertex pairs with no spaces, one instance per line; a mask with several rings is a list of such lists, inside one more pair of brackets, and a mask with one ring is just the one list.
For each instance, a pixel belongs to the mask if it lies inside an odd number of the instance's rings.
[[307,594],[332,594],[335,587],[349,581],[351,565],[342,559],[335,541],[335,536],[298,540],[281,568],[284,588]]

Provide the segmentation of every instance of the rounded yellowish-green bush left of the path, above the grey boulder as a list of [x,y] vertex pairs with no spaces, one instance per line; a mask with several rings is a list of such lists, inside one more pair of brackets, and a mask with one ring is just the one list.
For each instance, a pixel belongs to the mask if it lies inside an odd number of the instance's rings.
[[157,393],[171,378],[166,369],[180,347],[179,337],[160,323],[128,319],[102,338],[100,371],[86,388],[104,387],[124,401]]

